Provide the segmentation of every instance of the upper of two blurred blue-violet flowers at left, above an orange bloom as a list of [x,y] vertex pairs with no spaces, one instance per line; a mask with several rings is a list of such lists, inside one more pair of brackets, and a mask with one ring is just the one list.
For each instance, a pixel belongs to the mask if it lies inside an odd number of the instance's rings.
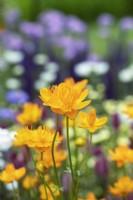
[[22,90],[12,90],[6,93],[6,99],[13,104],[24,104],[29,100],[29,96]]

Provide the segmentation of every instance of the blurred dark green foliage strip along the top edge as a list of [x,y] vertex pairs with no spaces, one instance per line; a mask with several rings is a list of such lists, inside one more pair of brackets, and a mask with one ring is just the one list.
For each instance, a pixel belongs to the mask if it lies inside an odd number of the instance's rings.
[[95,20],[104,12],[112,13],[116,18],[133,15],[133,0],[1,0],[1,5],[6,9],[19,7],[23,17],[30,20],[50,8],[75,14],[86,21]]

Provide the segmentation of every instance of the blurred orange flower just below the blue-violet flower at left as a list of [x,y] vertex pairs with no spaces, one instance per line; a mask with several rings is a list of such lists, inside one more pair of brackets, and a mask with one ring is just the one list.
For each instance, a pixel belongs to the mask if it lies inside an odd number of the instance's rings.
[[42,108],[36,103],[26,103],[22,113],[17,116],[17,121],[21,125],[32,125],[37,123],[42,117]]

